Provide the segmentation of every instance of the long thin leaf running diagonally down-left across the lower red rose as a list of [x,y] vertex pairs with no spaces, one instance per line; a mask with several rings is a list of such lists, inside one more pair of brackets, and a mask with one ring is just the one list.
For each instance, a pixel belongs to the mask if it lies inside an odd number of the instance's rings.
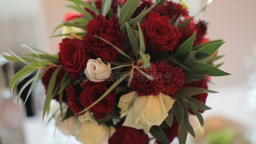
[[123,75],[122,77],[120,77],[118,80],[116,80],[116,82],[114,84],[112,84],[108,90],[96,101],[94,101],[89,107],[85,108],[83,111],[79,112],[78,114],[84,113],[87,110],[89,110],[90,108],[92,108],[95,104],[97,104],[100,100],[104,99],[109,92],[111,92],[118,84],[120,84],[128,75],[130,75],[131,72],[129,72],[128,74],[125,73],[125,75]]

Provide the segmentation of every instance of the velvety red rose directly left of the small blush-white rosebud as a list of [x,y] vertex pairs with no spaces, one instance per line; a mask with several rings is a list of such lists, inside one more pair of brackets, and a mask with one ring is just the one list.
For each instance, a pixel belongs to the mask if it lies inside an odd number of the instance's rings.
[[76,38],[65,38],[60,44],[59,62],[73,79],[79,79],[79,76],[86,68],[87,61],[92,56],[85,51],[84,41]]

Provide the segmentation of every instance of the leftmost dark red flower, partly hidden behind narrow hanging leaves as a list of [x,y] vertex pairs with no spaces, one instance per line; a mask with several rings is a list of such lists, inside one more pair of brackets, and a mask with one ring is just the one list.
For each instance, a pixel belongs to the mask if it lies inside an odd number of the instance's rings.
[[[50,79],[52,77],[52,74],[53,72],[57,69],[57,67],[52,67],[52,68],[48,68],[48,70],[44,73],[44,75],[42,76],[41,80],[42,80],[42,83],[44,84],[44,88],[45,88],[45,92],[47,93],[47,90],[48,90],[48,86],[49,86],[49,82],[50,82]],[[58,76],[57,76],[57,79],[56,79],[56,82],[55,82],[55,85],[54,85],[54,90],[58,87],[58,85],[61,83],[63,77],[64,77],[64,74],[65,74],[65,71],[63,69],[60,70]],[[53,91],[54,91],[53,90]],[[59,95],[56,95],[54,97],[55,100],[57,101],[60,101],[59,99]],[[67,101],[67,98],[66,98],[66,95],[65,95],[65,92],[63,93],[63,98],[62,98],[62,101]]]

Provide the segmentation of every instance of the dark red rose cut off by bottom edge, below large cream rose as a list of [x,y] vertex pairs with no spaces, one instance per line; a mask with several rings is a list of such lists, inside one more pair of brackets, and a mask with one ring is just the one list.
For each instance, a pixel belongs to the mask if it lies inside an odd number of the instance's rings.
[[142,130],[120,126],[108,140],[108,144],[148,144],[148,135]]

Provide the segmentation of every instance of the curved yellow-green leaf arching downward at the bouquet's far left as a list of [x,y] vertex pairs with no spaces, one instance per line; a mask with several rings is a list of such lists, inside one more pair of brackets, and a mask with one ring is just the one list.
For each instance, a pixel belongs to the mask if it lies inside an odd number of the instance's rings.
[[15,88],[20,83],[20,81],[30,76],[35,70],[36,70],[35,68],[25,67],[25,68],[22,68],[20,71],[18,71],[10,81],[10,92],[12,92],[12,89],[15,91]]

